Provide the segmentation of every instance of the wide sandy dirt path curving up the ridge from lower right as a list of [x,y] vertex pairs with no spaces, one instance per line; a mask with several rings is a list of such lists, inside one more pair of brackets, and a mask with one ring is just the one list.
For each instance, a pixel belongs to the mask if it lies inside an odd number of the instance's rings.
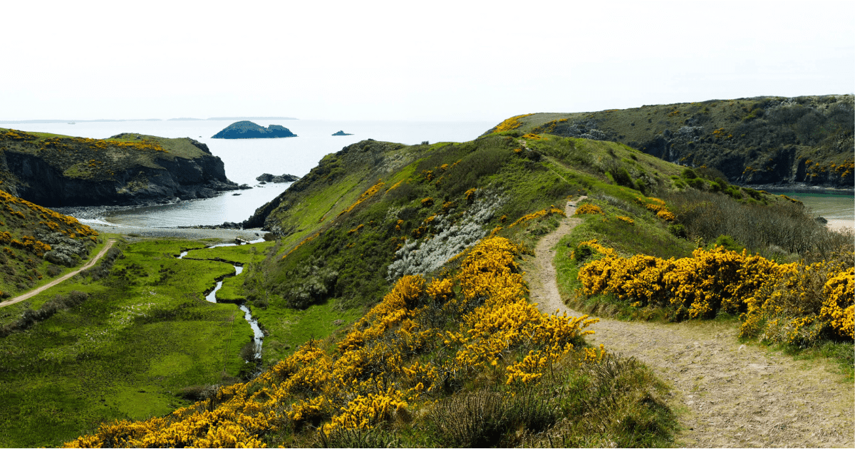
[[[579,316],[559,297],[551,263],[552,248],[579,222],[575,204],[566,211],[570,218],[535,248],[527,281],[540,310]],[[674,387],[669,405],[684,411],[678,446],[855,446],[855,386],[826,361],[740,345],[732,323],[601,318],[593,329],[590,342],[639,358]]]

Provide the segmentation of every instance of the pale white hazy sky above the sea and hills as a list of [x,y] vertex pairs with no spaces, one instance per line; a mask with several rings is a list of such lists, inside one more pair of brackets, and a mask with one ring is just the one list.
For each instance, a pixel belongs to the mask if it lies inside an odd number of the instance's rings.
[[19,1],[2,11],[0,120],[501,121],[855,92],[851,1]]

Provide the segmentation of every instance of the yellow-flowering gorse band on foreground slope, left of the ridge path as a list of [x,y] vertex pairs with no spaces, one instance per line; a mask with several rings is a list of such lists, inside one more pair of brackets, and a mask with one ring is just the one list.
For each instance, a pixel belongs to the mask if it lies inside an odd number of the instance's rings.
[[263,446],[285,428],[373,428],[478,372],[516,388],[571,352],[578,363],[597,363],[602,346],[573,351],[597,320],[529,304],[519,251],[507,239],[484,239],[457,257],[456,274],[402,277],[336,350],[310,341],[253,381],[167,417],[105,423],[67,446]]

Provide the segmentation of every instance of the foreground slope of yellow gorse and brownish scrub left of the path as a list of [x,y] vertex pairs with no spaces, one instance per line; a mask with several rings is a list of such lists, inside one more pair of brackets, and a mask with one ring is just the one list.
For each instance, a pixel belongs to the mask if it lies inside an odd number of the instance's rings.
[[340,339],[313,340],[253,381],[73,447],[665,446],[663,384],[584,346],[596,320],[526,298],[521,248],[484,239],[442,272],[405,275]]

